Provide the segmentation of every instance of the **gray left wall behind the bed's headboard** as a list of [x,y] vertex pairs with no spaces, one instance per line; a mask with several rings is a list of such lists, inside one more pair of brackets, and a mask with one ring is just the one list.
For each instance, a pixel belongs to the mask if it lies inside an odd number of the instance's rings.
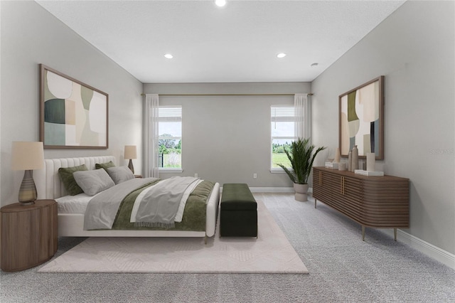
[[1,206],[17,201],[23,171],[11,171],[11,142],[38,141],[38,64],[109,94],[109,149],[45,149],[45,158],[113,155],[137,144],[141,174],[142,83],[34,1],[1,5]]

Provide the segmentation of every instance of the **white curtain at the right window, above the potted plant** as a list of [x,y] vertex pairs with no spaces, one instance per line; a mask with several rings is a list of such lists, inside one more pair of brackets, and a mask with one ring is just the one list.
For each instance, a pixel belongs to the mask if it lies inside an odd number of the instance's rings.
[[311,138],[311,102],[308,100],[308,94],[294,95],[294,107],[296,110],[296,137]]

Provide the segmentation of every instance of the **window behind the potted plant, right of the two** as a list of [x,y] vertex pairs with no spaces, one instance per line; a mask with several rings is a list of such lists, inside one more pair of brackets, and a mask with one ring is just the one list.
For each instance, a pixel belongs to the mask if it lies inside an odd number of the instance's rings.
[[290,147],[295,137],[295,108],[293,105],[272,105],[270,107],[270,120],[272,122],[272,171],[282,171],[277,164],[291,167],[284,149]]

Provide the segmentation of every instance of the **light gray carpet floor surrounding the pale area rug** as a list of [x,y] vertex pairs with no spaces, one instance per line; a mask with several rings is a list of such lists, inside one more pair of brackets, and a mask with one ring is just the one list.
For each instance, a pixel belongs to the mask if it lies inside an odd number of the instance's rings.
[[[455,270],[293,193],[254,193],[272,213],[310,275],[38,273],[0,271],[1,303],[446,303],[455,302]],[[311,198],[311,197],[309,197]],[[391,230],[390,230],[391,231]],[[63,255],[85,238],[58,239]],[[54,259],[48,261],[53,262]],[[42,265],[41,265],[42,266]]]

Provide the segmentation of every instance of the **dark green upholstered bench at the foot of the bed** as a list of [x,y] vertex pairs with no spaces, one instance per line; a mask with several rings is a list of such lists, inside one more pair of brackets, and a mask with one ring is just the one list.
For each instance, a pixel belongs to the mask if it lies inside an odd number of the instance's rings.
[[220,237],[257,237],[257,203],[247,184],[223,184]]

